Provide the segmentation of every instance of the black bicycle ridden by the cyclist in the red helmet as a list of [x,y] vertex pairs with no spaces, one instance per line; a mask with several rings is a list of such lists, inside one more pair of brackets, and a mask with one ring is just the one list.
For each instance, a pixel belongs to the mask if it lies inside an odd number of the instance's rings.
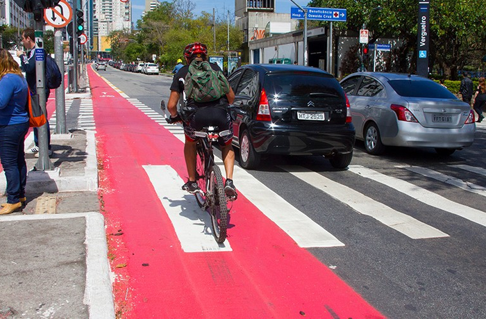
[[[164,101],[160,103],[160,108],[165,111]],[[182,120],[180,115],[167,117],[166,114],[165,116],[169,124]],[[220,136],[227,136],[231,132],[229,130],[220,132],[217,126],[207,126],[194,134],[199,138],[196,144],[196,183],[201,188],[201,191],[194,196],[199,207],[203,211],[208,211],[211,216],[212,234],[217,243],[224,243],[228,228],[228,206],[224,194],[223,176],[215,164],[212,143],[217,142]]]

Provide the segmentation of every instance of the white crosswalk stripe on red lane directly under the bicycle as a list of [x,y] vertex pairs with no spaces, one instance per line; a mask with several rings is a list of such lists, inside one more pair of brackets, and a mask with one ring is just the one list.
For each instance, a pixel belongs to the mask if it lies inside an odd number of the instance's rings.
[[168,165],[143,165],[162,205],[169,215],[184,252],[228,252],[228,239],[218,244],[212,236],[211,218],[181,189],[184,181]]

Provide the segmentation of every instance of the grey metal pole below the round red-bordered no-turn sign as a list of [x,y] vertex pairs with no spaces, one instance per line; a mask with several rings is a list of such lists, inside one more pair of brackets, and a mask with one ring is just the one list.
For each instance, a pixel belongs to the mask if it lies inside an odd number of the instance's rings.
[[61,85],[59,88],[56,88],[56,134],[65,134],[67,133],[67,127],[64,93],[64,56],[62,54],[62,29],[60,28],[56,28],[54,32],[54,54],[62,76]]

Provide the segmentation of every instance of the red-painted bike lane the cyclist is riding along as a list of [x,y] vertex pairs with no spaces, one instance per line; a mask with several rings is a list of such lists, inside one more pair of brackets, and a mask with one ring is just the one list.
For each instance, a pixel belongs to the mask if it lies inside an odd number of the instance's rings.
[[88,72],[119,318],[383,318],[244,194],[231,210],[233,251],[183,252],[142,167],[185,179],[183,142]]

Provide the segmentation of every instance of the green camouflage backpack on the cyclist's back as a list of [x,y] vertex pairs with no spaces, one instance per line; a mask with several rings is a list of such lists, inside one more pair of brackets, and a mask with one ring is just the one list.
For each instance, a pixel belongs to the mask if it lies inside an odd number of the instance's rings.
[[223,72],[212,69],[208,61],[192,60],[185,76],[185,94],[196,102],[215,101],[230,92]]

